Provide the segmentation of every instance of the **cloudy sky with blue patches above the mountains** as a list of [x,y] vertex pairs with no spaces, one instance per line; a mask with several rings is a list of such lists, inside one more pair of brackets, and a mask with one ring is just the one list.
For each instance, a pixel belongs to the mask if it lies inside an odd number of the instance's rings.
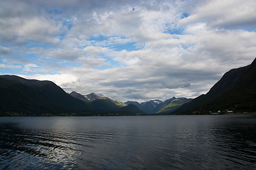
[[206,94],[256,57],[255,0],[0,0],[0,74],[119,101]]

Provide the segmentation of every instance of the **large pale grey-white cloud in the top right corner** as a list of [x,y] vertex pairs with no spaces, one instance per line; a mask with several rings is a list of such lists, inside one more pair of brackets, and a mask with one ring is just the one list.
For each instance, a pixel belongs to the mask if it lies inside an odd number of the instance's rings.
[[213,28],[240,28],[256,26],[256,2],[253,0],[210,1],[183,18],[179,24],[206,22]]

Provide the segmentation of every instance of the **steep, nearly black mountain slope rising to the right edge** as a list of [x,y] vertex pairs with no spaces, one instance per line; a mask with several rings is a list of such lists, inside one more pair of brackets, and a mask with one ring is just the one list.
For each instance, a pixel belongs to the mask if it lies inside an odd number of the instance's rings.
[[183,104],[171,114],[208,114],[228,109],[234,112],[256,111],[256,59],[252,64],[231,69],[208,91]]

